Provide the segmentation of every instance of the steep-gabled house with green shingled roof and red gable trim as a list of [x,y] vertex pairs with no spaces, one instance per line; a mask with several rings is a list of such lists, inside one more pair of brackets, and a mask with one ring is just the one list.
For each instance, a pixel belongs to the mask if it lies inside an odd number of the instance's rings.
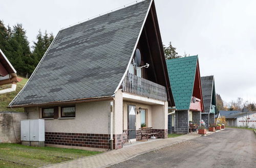
[[189,121],[201,125],[204,103],[198,55],[166,60],[176,104],[175,132],[188,133]]

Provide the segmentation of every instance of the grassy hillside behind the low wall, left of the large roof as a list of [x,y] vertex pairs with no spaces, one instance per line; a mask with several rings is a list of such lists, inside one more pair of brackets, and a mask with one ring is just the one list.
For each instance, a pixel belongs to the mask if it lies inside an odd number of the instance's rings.
[[[23,78],[23,77],[19,77],[19,78],[22,78],[22,81],[17,82],[17,88],[16,88],[15,92],[0,95],[0,111],[24,112],[24,108],[13,108],[13,109],[7,108],[7,106],[12,101],[12,99],[14,99],[14,97],[19,93],[20,90],[22,90],[22,88],[25,86],[26,82],[28,81],[28,79],[26,79],[26,78]],[[5,88],[6,86],[1,86],[1,87]]]

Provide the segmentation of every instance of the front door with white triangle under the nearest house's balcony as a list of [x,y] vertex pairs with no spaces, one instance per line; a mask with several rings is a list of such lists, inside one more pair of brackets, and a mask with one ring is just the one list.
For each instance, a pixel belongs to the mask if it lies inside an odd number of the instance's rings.
[[128,129],[134,129],[129,131],[129,138],[136,139],[136,109],[134,105],[128,105]]

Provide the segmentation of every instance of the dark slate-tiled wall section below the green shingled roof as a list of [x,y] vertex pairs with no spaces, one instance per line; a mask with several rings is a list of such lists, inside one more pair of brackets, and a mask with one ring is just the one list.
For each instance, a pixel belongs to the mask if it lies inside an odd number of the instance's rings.
[[176,133],[188,133],[188,111],[175,111]]

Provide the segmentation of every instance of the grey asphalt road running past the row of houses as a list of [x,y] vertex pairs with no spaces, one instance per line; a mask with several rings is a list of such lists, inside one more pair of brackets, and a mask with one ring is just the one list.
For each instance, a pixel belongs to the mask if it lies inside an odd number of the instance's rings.
[[226,128],[112,167],[256,167],[256,135],[251,130]]

